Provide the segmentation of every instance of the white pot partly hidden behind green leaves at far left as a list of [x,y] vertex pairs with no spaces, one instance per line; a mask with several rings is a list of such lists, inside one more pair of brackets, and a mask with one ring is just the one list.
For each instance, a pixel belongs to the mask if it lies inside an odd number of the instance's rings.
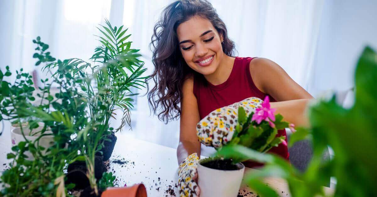
[[[30,131],[28,126],[22,127],[25,138],[32,141],[32,142],[34,142],[40,136],[40,133],[37,133],[37,132],[41,131],[42,129],[43,129],[43,126],[40,126],[40,127],[33,129],[32,131]],[[37,134],[35,134],[35,133],[37,133]],[[51,134],[52,132],[51,131],[45,131],[44,133],[45,134]],[[12,146],[17,145],[21,141],[25,141],[25,138],[21,133],[21,127],[12,129],[12,131],[11,131]],[[43,136],[39,140],[39,145],[46,148],[46,150],[47,150],[47,148],[51,147],[53,144],[54,144],[54,136],[53,135]],[[44,154],[46,152],[46,150],[42,151],[42,154]],[[28,159],[28,160],[34,159],[34,157],[32,156],[32,154],[29,151],[25,151],[24,154],[26,156],[28,156],[28,158],[26,158],[26,159]]]

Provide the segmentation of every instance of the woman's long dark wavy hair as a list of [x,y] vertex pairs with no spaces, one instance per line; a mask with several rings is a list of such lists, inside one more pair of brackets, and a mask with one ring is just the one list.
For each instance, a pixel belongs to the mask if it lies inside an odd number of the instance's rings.
[[212,23],[224,38],[222,50],[233,57],[234,42],[228,38],[227,27],[207,0],[178,0],[164,8],[149,45],[155,66],[149,79],[153,79],[155,86],[148,92],[148,101],[153,113],[165,123],[181,115],[183,81],[187,75],[196,74],[182,57],[176,33],[179,24],[194,16],[206,18]]

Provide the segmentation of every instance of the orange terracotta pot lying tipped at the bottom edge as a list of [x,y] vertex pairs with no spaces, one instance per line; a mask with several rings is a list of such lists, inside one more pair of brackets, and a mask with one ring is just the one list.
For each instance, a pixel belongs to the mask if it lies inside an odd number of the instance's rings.
[[147,197],[147,190],[143,183],[135,184],[132,187],[107,188],[101,197]]

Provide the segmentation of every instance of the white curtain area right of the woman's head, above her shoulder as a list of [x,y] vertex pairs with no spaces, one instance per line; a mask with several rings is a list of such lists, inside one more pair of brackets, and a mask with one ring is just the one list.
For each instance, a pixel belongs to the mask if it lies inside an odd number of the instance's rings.
[[308,86],[323,0],[212,0],[241,57],[264,57]]

